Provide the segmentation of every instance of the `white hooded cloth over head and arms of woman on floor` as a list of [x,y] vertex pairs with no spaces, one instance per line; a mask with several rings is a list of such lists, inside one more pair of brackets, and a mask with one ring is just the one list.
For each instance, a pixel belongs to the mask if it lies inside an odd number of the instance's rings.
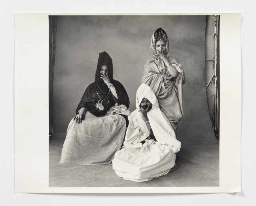
[[163,114],[163,112],[161,112],[161,110],[159,109],[158,101],[155,97],[153,90],[146,84],[141,84],[139,86],[136,93],[137,109],[133,111],[133,114],[131,116],[129,116],[129,124],[133,125],[134,122],[138,122],[140,125],[140,131],[142,131],[142,133],[145,133],[145,135],[143,137],[138,137],[138,139],[137,137],[135,137],[135,133],[133,131],[130,131],[133,130],[133,128],[128,126],[125,141],[129,144],[138,145],[140,141],[145,140],[150,134],[144,120],[142,119],[141,113],[138,112],[138,110],[140,109],[140,102],[143,98],[148,99],[153,104],[152,109],[147,112],[147,115],[155,139],[161,144],[169,145],[173,152],[178,152],[180,150],[181,143],[176,139],[173,127],[171,126],[170,122]]

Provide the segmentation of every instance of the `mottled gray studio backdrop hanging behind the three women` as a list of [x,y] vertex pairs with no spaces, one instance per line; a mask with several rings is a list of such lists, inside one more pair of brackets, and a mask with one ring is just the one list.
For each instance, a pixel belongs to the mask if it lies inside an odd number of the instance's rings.
[[144,64],[152,56],[155,29],[169,37],[169,56],[183,65],[184,116],[181,142],[215,142],[205,91],[205,15],[196,16],[57,16],[53,129],[63,134],[87,86],[94,82],[99,53],[112,57],[114,79],[125,87],[131,111]]

